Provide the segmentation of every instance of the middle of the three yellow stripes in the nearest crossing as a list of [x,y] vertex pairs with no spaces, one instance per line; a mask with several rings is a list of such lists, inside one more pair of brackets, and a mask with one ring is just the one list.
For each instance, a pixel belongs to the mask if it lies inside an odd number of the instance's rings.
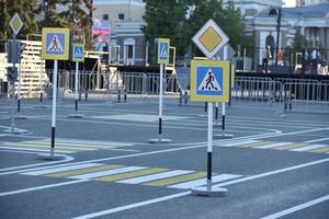
[[102,176],[102,177],[97,177],[93,178],[94,181],[102,181],[102,182],[113,182],[113,181],[122,181],[126,178],[132,178],[136,176],[144,176],[144,175],[149,175],[154,173],[160,173],[168,171],[168,169],[160,169],[160,168],[152,168],[152,169],[146,169],[146,170],[140,170],[140,171],[133,171],[128,173],[121,173],[121,174],[115,174],[115,175],[107,175],[107,176]]

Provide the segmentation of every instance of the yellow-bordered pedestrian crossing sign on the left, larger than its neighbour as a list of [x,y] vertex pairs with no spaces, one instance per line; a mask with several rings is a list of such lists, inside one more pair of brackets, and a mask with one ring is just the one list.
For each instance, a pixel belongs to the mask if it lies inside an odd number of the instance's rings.
[[52,60],[69,59],[69,28],[43,28],[42,58]]

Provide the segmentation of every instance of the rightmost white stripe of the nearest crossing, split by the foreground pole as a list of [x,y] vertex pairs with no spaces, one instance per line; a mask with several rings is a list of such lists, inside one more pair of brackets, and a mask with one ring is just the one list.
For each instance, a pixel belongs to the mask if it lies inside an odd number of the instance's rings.
[[[220,174],[220,175],[213,176],[212,181],[213,181],[213,183],[219,183],[219,182],[223,182],[223,181],[228,181],[228,180],[237,178],[237,177],[240,177],[240,176],[241,175]],[[168,186],[168,187],[189,189],[189,188],[202,186],[202,185],[205,185],[205,184],[207,184],[207,180],[206,178],[200,178],[200,180],[190,181],[190,182],[186,182],[186,183],[180,183],[180,184],[171,185],[171,186]]]

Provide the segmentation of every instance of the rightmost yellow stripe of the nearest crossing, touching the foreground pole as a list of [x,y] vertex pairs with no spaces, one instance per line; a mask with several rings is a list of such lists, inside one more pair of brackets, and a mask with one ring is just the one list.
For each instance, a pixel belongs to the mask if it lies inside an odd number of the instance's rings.
[[171,185],[171,184],[184,183],[188,181],[202,178],[202,177],[205,177],[206,175],[207,175],[206,172],[196,172],[196,173],[191,173],[191,174],[186,174],[186,175],[180,175],[180,176],[164,178],[164,180],[160,180],[160,181],[144,183],[143,185],[167,186],[167,185]]

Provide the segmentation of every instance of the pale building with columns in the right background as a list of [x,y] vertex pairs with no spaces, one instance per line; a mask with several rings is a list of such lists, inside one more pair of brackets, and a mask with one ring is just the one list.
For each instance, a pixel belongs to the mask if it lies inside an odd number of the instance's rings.
[[[299,32],[308,42],[308,48],[322,50],[322,59],[329,57],[329,3],[310,4],[297,8],[281,9],[280,32],[277,32],[279,10],[268,9],[254,16],[252,30],[254,35],[256,66],[262,64],[265,47],[271,47],[272,61],[279,51],[293,45],[295,35]],[[277,44],[277,33],[279,44]],[[303,48],[300,48],[302,51]]]

